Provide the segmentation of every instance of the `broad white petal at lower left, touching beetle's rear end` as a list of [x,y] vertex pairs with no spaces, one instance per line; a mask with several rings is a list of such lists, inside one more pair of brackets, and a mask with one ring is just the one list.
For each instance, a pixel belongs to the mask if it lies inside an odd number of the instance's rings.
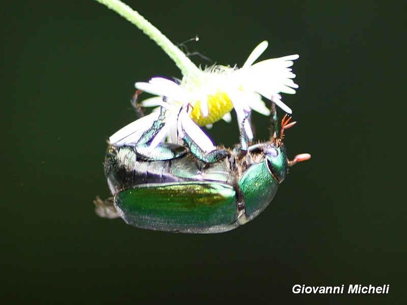
[[136,143],[134,142],[134,138],[137,138],[138,136],[139,139],[141,134],[148,130],[153,125],[154,121],[158,119],[158,116],[159,112],[153,112],[135,120],[133,123],[130,123],[129,125],[115,132],[109,138],[109,142],[116,146],[134,145]]

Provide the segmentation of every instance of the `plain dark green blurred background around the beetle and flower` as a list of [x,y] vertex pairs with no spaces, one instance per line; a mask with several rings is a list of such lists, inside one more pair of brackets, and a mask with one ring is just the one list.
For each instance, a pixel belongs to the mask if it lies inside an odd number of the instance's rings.
[[[256,220],[215,235],[94,214],[106,139],[134,120],[135,81],[180,77],[136,27],[91,0],[2,3],[2,303],[398,304],[406,293],[406,3],[128,1],[220,64],[299,53],[297,165]],[[209,64],[193,57],[197,64]],[[254,116],[258,138],[268,118]],[[227,130],[227,131],[226,131]],[[236,121],[216,143],[237,142]],[[296,284],[382,295],[294,294]]]

